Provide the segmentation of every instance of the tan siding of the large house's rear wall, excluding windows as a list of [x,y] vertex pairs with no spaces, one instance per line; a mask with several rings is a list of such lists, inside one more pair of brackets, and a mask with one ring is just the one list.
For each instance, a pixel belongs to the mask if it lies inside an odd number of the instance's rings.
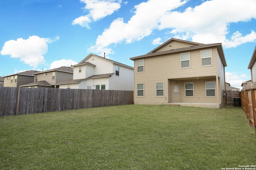
[[[172,102],[172,92],[174,91],[172,83],[174,79],[180,79],[178,81],[180,82],[181,102],[218,103],[217,94],[215,97],[206,97],[205,82],[214,81],[217,86],[216,76],[218,75],[217,50],[216,48],[210,49],[212,50],[212,65],[207,66],[201,64],[201,50],[186,51],[190,52],[190,68],[181,68],[180,53],[144,58],[144,73],[137,72],[137,60],[135,60],[134,102],[159,104],[164,101]],[[196,77],[199,77],[199,80]],[[208,79],[200,77],[208,77]],[[164,83],[164,97],[156,97],[156,83],[161,82]],[[185,82],[194,83],[194,97],[185,97]],[[144,97],[137,97],[138,83],[144,83]]]

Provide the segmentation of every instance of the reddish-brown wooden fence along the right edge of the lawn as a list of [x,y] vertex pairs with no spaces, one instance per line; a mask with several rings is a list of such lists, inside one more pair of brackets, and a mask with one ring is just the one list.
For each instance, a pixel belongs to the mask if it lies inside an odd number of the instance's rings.
[[247,84],[241,91],[241,104],[250,126],[256,127],[256,83]]

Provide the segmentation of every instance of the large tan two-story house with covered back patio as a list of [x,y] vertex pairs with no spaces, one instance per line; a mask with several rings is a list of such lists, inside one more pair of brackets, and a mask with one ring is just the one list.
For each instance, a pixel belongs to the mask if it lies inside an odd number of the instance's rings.
[[221,43],[170,39],[134,61],[134,104],[220,108],[226,59]]

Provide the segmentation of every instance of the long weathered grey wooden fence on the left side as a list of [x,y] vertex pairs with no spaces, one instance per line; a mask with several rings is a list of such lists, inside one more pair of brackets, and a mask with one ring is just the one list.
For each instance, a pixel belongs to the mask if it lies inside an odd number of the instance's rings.
[[0,87],[0,117],[133,103],[133,91]]

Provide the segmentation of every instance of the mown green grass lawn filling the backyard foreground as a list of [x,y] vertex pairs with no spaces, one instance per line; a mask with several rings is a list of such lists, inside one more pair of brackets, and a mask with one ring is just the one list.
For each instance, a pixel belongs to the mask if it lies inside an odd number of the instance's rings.
[[256,164],[240,107],[123,105],[0,117],[0,169],[202,169]]

